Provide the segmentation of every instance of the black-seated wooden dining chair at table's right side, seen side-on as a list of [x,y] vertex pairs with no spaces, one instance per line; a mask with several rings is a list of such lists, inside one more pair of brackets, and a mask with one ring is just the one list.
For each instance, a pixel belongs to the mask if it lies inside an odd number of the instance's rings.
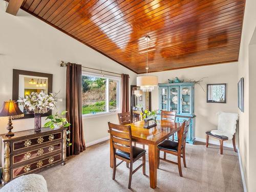
[[[178,131],[178,142],[172,140],[164,140],[162,143],[158,145],[158,168],[160,164],[160,160],[173,163],[178,165],[180,177],[182,177],[181,171],[181,158],[183,159],[184,167],[186,166],[186,156],[185,156],[185,149],[186,149],[186,138],[188,133],[188,128],[191,119],[184,121],[181,127],[181,130]],[[160,157],[160,151],[163,151],[168,154],[172,154],[178,157],[178,162],[167,160],[166,157]]]

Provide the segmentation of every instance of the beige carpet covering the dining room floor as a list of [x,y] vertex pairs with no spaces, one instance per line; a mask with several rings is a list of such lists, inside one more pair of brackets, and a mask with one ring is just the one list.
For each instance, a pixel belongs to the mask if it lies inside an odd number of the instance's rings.
[[[187,144],[187,168],[160,161],[157,172],[157,188],[150,188],[148,162],[146,176],[138,170],[132,179],[132,191],[243,191],[238,155],[231,148],[219,154],[218,146],[197,142]],[[161,154],[162,155],[162,154]],[[167,158],[171,158],[167,155]],[[176,158],[172,158],[175,160]],[[146,157],[146,160],[147,157]],[[134,165],[141,163],[139,160]],[[116,179],[112,180],[109,166],[109,142],[87,148],[86,152],[74,156],[65,166],[55,166],[40,175],[44,176],[49,191],[131,191],[127,189],[129,169],[125,163],[117,167]]]

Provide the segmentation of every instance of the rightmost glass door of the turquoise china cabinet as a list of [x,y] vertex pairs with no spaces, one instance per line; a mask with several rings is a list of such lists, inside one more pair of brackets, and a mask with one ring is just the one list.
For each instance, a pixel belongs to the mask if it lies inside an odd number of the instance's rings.
[[192,103],[191,103],[192,87],[181,86],[180,87],[180,114],[191,115],[192,114]]

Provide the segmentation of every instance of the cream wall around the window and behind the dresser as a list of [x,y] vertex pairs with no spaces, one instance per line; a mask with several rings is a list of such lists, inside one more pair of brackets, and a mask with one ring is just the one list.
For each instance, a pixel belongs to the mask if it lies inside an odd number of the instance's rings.
[[[12,99],[12,69],[53,74],[53,92],[66,95],[66,68],[61,60],[80,63],[116,73],[130,75],[130,84],[136,83],[136,74],[113,60],[99,54],[79,41],[56,30],[36,17],[19,10],[17,16],[5,13],[5,2],[0,1],[0,105]],[[58,111],[65,110],[66,100],[58,103]],[[42,124],[44,123],[42,118]],[[83,119],[86,143],[108,136],[108,121],[117,123],[117,115]],[[0,134],[6,133],[7,118],[0,118]],[[14,132],[33,129],[34,119],[13,120]]]

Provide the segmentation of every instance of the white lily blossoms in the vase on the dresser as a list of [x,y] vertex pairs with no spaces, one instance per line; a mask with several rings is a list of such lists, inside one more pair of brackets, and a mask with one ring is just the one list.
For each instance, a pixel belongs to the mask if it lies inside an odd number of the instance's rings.
[[[59,92],[58,92],[59,93]],[[27,110],[34,113],[47,113],[49,110],[56,108],[58,93],[46,94],[44,91],[40,93],[32,92],[30,95],[26,95],[24,98],[17,100]]]

